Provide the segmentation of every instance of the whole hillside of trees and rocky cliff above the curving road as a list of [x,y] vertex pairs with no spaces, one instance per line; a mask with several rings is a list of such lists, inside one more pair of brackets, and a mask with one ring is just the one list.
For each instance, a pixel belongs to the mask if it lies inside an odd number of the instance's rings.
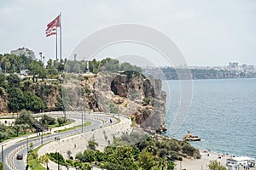
[[[65,60],[57,63],[0,54],[0,114],[22,109],[44,111],[112,112],[131,116],[133,124],[154,133],[166,130],[166,94],[161,81],[117,59]],[[26,61],[26,62],[25,62]],[[4,65],[11,65],[6,67]],[[18,65],[26,69],[16,73]]]

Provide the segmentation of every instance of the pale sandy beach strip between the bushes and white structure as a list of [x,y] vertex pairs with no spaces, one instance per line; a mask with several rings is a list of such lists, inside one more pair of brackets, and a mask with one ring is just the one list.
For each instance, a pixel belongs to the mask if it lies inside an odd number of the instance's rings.
[[[175,167],[176,170],[209,170],[207,165],[210,163],[210,161],[218,161],[220,165],[225,166],[226,159],[230,158],[230,156],[223,156],[218,153],[208,151],[207,153],[204,153],[203,150],[200,150],[201,153],[201,159],[187,159],[183,158],[183,161],[176,161],[177,166]],[[209,155],[208,155],[209,154]],[[221,158],[218,158],[220,156]],[[256,167],[250,168],[250,170],[256,170]]]

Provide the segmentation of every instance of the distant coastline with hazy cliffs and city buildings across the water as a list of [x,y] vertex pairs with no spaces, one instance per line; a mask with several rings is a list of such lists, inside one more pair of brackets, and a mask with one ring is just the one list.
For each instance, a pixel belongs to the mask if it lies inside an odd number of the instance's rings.
[[143,68],[143,74],[158,77],[161,80],[251,78],[256,77],[256,67],[238,65],[238,63],[215,67],[146,67]]

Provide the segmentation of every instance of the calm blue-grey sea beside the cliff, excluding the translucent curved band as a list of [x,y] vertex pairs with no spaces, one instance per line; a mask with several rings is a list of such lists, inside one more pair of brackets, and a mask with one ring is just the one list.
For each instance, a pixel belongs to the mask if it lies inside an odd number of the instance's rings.
[[[194,80],[189,116],[174,135],[182,139],[190,131],[202,140],[190,142],[200,149],[256,158],[256,79]],[[180,98],[179,81],[163,81],[169,88],[166,126],[172,126]]]

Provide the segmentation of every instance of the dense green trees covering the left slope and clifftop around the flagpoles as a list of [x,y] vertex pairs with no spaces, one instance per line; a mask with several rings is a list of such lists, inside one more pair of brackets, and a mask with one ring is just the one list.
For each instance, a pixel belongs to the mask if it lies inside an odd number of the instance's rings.
[[[41,60],[32,60],[24,55],[0,54],[0,96],[8,103],[8,112],[18,112],[23,109],[32,112],[64,111],[61,99],[61,82],[63,71],[67,73],[84,73],[90,71],[137,71],[142,69],[129,63],[119,63],[117,59],[102,59],[97,61],[56,60],[49,59],[47,65]],[[22,70],[29,70],[28,75],[20,78]],[[49,103],[48,96],[55,94],[55,105]],[[7,112],[1,111],[0,112]]]

